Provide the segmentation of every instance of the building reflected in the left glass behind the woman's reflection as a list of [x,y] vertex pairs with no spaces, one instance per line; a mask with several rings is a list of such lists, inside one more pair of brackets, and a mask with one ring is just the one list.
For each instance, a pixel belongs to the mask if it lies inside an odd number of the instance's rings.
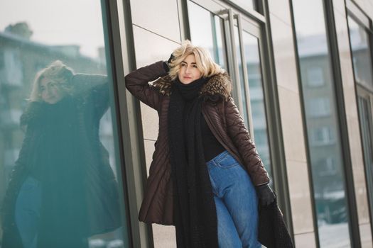
[[[11,33],[11,31],[0,32],[0,43],[0,140],[6,140],[6,143],[1,143],[4,147],[0,147],[2,148],[0,161],[4,161],[5,168],[5,180],[1,180],[3,184],[1,188],[4,189],[9,179],[9,172],[18,157],[18,144],[23,140],[23,133],[19,129],[19,118],[30,96],[36,72],[45,68],[53,60],[65,62],[76,72],[95,74],[107,74],[107,72],[104,57],[94,60],[81,55],[78,45],[56,46],[36,43],[27,35],[23,37],[22,34]],[[104,120],[102,130],[106,130],[103,135],[111,135],[107,131],[107,125],[109,127],[111,125],[107,123],[107,117],[102,120]]]

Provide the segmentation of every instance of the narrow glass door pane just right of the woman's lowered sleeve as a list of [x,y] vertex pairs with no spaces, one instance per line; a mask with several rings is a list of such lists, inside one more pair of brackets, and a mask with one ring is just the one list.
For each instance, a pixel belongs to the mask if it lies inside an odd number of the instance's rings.
[[[261,74],[261,60],[259,54],[259,40],[255,36],[243,32],[244,52],[249,78],[250,106],[252,109],[252,125],[254,128],[254,141],[260,152],[264,167],[274,183],[271,169],[271,153],[269,150],[269,133],[266,120],[266,108],[264,102],[263,77]],[[245,82],[247,84],[247,82]]]

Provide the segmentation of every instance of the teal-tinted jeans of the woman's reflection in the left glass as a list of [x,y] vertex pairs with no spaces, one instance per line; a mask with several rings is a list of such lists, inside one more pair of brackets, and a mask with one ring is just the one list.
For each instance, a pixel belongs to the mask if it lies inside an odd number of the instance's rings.
[[18,193],[15,209],[16,225],[25,248],[36,248],[40,207],[40,181],[28,176]]

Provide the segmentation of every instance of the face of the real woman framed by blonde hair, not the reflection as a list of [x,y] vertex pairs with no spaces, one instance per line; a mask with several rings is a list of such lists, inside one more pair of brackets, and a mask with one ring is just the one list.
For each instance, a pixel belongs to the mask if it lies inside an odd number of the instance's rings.
[[190,84],[191,82],[200,79],[201,76],[202,73],[197,67],[195,56],[188,55],[185,57],[185,59],[180,63],[180,70],[178,72],[180,82],[183,84]]

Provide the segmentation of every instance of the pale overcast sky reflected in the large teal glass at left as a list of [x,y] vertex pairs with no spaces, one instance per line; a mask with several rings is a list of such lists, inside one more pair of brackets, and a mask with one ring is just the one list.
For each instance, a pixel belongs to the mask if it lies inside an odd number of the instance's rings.
[[0,30],[21,21],[28,23],[36,42],[80,45],[90,57],[104,46],[99,0],[1,0]]

